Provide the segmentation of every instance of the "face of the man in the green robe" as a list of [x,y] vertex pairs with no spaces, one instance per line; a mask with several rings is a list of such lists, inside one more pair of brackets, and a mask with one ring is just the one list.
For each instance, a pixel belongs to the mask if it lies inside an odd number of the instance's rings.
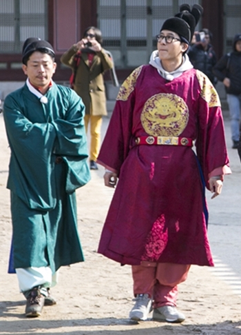
[[45,89],[50,85],[56,70],[56,63],[54,63],[49,54],[35,51],[28,59],[27,65],[23,64],[22,68],[32,85]]

